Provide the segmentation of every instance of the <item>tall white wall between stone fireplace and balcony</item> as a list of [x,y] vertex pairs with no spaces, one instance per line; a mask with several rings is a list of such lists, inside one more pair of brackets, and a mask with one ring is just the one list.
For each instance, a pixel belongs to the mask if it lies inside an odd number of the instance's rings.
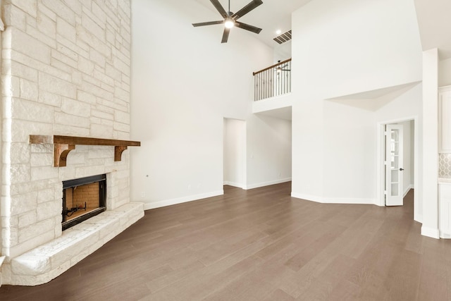
[[246,121],[248,139],[264,130],[252,128],[252,72],[273,51],[239,28],[221,44],[221,25],[191,25],[217,17],[197,1],[132,1],[131,135],[142,146],[130,151],[131,198],[147,209],[223,193],[223,118]]

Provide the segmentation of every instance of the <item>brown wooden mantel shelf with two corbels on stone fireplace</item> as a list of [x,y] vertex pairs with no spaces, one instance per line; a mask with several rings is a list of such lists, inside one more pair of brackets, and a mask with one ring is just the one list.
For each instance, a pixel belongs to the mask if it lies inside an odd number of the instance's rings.
[[114,147],[114,161],[121,161],[122,152],[127,147],[139,147],[141,142],[128,140],[111,140],[89,137],[73,137],[58,135],[30,135],[30,144],[54,145],[54,166],[66,166],[69,152],[75,145],[111,145]]

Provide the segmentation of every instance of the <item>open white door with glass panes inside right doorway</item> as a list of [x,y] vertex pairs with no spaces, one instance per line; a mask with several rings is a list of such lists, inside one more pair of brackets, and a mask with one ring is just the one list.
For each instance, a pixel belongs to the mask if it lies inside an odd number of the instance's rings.
[[385,131],[385,206],[402,206],[402,125],[389,124]]

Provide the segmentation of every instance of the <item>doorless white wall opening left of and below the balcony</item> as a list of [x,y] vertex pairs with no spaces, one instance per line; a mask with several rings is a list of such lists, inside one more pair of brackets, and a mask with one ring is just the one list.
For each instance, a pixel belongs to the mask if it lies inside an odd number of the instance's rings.
[[246,121],[224,118],[223,184],[246,185]]

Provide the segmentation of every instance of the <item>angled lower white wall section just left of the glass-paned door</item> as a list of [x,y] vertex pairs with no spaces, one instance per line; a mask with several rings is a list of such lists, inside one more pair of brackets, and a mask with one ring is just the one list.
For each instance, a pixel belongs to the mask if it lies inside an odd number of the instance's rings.
[[373,112],[325,102],[323,118],[323,197],[330,202],[337,199],[373,203],[376,181]]

